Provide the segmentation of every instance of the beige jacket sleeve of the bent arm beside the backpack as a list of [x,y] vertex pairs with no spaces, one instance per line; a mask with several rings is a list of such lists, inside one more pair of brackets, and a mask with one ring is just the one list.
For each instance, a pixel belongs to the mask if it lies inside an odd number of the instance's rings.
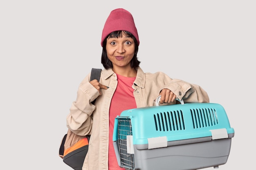
[[99,96],[92,84],[90,84],[90,75],[85,77],[79,85],[77,97],[67,115],[67,127],[76,135],[85,136],[90,134],[92,128],[92,113],[95,106],[91,103]]

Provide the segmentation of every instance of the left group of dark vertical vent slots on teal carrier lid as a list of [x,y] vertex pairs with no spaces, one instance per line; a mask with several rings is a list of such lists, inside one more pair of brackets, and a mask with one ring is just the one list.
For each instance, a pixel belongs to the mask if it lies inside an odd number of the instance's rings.
[[180,110],[154,115],[157,131],[185,130],[183,113]]

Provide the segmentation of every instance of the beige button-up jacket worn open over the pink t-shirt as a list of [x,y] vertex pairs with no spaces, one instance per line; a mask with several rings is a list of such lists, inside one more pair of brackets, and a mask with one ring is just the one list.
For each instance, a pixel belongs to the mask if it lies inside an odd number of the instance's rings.
[[[72,103],[67,116],[67,127],[77,135],[91,134],[83,170],[108,170],[109,108],[117,88],[117,75],[112,69],[101,71],[100,83],[109,88],[101,89],[100,96],[89,81],[90,74],[79,85],[76,101]],[[162,72],[144,73],[141,68],[138,68],[132,88],[137,108],[154,106],[154,100],[163,88],[173,91],[184,103],[209,102],[207,93],[200,86],[171,79]],[[96,98],[95,105],[91,104]]]

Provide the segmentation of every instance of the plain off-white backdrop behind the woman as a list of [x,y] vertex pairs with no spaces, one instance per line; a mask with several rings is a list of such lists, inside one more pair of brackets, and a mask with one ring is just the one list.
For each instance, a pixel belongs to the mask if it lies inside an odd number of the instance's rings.
[[[110,11],[130,11],[145,72],[199,84],[235,130],[220,170],[252,170],[256,12],[253,0],[0,2],[0,169],[71,170],[58,157],[81,80],[101,65]],[[205,170],[213,168],[205,168]]]

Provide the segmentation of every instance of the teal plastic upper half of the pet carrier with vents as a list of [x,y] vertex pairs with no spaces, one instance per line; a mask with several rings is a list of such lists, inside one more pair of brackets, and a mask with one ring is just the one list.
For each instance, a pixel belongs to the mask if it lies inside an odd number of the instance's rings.
[[190,103],[124,110],[115,118],[113,141],[132,136],[134,145],[164,147],[166,141],[223,139],[232,134],[234,129],[220,104]]

